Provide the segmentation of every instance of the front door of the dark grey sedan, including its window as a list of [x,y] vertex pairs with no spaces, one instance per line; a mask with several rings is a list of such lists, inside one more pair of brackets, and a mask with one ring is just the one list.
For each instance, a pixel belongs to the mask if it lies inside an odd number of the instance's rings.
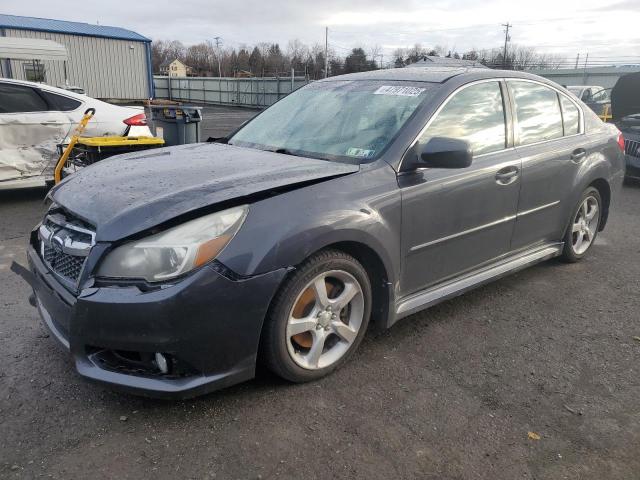
[[472,270],[510,251],[520,190],[520,159],[507,129],[504,84],[481,81],[454,92],[418,141],[470,142],[463,169],[401,172],[402,296]]

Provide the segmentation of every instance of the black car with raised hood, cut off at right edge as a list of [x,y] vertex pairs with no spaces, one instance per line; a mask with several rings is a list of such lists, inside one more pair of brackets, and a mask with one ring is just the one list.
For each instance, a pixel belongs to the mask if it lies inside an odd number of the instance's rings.
[[640,180],[640,73],[618,79],[611,91],[611,112],[625,139],[626,176]]

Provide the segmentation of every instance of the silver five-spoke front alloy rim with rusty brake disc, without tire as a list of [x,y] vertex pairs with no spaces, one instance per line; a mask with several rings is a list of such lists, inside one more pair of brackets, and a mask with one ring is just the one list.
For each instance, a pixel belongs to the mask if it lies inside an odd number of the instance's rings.
[[343,270],[317,275],[298,295],[289,313],[289,355],[308,370],[333,365],[356,340],[364,310],[362,287],[353,275]]

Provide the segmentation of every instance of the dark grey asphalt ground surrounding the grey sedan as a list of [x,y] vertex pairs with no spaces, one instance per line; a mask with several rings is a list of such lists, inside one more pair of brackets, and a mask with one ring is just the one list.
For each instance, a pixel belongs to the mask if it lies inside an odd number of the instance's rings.
[[0,192],[0,478],[638,478],[638,205],[625,186],[585,261],[369,334],[320,382],[166,402],[76,375],[8,269],[42,192]]

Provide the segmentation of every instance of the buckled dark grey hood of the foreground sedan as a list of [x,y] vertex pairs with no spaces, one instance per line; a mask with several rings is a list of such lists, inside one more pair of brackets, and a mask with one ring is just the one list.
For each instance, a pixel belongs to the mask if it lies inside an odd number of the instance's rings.
[[[216,143],[191,144],[103,160],[50,193],[114,241],[217,203],[354,173],[358,165]],[[251,199],[246,199],[250,202]]]

